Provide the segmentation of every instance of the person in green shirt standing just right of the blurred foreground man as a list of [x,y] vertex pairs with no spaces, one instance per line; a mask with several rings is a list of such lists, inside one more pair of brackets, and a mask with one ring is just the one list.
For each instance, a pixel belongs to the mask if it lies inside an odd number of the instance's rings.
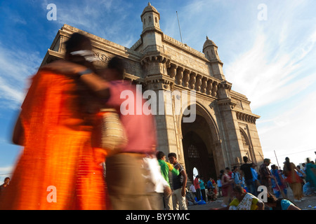
[[171,165],[169,162],[166,162],[166,155],[164,155],[162,151],[158,151],[156,156],[162,171],[162,176],[169,184],[169,188],[164,188],[164,204],[166,210],[173,210],[171,187],[169,183],[169,171],[176,175],[179,175],[180,173],[178,169],[173,167],[173,165]]

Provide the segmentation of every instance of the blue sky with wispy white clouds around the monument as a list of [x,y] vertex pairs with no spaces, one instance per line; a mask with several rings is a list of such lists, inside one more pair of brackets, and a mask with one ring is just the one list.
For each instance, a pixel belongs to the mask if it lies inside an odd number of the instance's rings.
[[[218,45],[232,90],[251,101],[265,158],[315,159],[316,1],[153,0],[162,31],[202,51]],[[57,20],[47,20],[49,3]],[[63,24],[130,48],[142,31],[143,0],[0,2],[0,181],[21,148],[11,132],[28,87]],[[264,14],[265,13],[265,14]],[[266,15],[266,17],[265,17]],[[4,174],[4,175],[1,175]]]

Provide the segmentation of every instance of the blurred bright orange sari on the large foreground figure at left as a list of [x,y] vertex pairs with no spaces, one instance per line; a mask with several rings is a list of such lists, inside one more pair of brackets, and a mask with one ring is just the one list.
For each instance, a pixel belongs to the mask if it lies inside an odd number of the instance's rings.
[[33,77],[20,113],[25,147],[0,209],[108,209],[105,155],[91,148],[93,115],[77,84],[43,69]]

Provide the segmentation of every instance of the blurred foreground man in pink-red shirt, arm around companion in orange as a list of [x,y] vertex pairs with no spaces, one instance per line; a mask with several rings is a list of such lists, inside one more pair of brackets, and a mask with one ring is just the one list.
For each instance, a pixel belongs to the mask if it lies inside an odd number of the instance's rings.
[[[146,179],[149,169],[144,165],[148,161],[146,158],[155,158],[156,125],[150,109],[143,111],[145,99],[136,85],[123,81],[124,66],[124,60],[115,56],[98,74],[79,65],[64,64],[62,69],[79,74],[77,78],[101,100],[101,108],[116,109],[126,131],[128,143],[124,148],[117,152],[104,152],[105,178],[111,209],[147,210],[151,209],[150,195],[147,192],[149,179]],[[121,97],[122,93],[128,94],[128,104],[126,98]],[[138,99],[142,99],[142,102],[139,103]],[[138,114],[136,111],[142,113]]]

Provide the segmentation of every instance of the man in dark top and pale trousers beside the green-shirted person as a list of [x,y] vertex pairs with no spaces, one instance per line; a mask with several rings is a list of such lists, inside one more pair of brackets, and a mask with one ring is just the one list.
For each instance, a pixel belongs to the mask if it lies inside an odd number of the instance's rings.
[[187,210],[185,202],[185,186],[187,185],[187,173],[182,165],[178,163],[176,153],[169,153],[168,158],[170,163],[179,170],[180,174],[172,174],[173,186],[173,210]]

